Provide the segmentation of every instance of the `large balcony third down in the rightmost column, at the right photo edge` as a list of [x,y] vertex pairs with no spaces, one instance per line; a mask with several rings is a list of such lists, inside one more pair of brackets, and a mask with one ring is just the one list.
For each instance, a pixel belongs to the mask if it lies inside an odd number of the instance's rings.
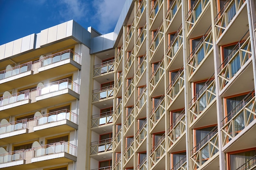
[[[251,91],[221,122],[222,146],[227,152],[255,147],[255,92]],[[246,146],[243,145],[246,143]]]

